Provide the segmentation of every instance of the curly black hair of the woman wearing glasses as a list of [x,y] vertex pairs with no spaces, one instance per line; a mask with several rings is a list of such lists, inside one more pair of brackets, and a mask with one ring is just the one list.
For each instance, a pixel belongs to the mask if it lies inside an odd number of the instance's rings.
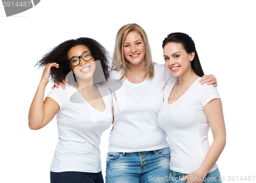
[[[94,60],[100,60],[105,80],[108,80],[110,76],[109,52],[98,41],[88,37],[80,37],[78,39],[71,39],[60,43],[59,45],[57,45],[57,47],[53,48],[49,53],[45,54],[41,60],[37,61],[37,64],[35,66],[38,65],[38,67],[45,67],[48,63],[58,63],[59,68],[51,68],[50,78],[54,82],[61,82],[65,80],[67,75],[71,72],[71,68],[68,62],[68,52],[70,51],[70,49],[77,45],[85,45],[92,53]],[[95,64],[95,69],[97,70],[97,62],[95,62]],[[100,66],[98,66],[98,68],[100,68]],[[94,75],[95,73],[97,72],[94,72]],[[68,80],[70,85],[75,86],[77,85],[77,83],[75,83],[74,81],[75,80]],[[93,83],[95,84],[97,83],[97,81],[94,80]],[[100,85],[100,83],[97,84]]]

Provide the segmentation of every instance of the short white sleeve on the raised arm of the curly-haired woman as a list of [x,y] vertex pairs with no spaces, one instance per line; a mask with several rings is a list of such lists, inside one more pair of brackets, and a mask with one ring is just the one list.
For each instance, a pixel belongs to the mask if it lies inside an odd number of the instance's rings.
[[50,97],[53,100],[55,100],[59,105],[59,109],[63,109],[67,105],[69,100],[68,87],[65,87],[65,89],[63,89],[62,87],[55,87],[50,91],[47,97]]

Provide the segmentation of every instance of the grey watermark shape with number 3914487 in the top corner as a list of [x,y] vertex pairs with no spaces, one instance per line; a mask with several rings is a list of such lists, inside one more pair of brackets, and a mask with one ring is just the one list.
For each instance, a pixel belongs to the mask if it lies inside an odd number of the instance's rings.
[[27,11],[34,6],[36,6],[40,0],[19,0],[19,1],[6,1],[2,0],[4,9],[5,9],[5,14],[6,16],[12,16],[16,15],[18,13],[22,13],[24,11]]

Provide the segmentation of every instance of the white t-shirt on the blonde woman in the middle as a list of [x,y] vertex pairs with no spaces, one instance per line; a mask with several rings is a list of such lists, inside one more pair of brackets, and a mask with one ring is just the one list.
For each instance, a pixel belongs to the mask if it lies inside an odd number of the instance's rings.
[[[177,78],[167,71],[164,64],[155,63],[154,68],[152,80],[134,84],[125,79],[115,92],[115,122],[109,137],[109,152],[150,151],[168,146],[166,133],[159,127],[157,116],[163,103],[164,86]],[[121,73],[122,69],[112,71],[110,79],[120,79]]]

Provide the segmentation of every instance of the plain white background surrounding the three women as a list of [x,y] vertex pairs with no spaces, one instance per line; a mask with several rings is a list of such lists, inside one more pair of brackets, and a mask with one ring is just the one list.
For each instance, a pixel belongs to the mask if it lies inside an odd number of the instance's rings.
[[[158,63],[164,63],[161,44],[169,33],[184,32],[195,40],[204,73],[217,77],[222,98],[227,143],[217,163],[224,182],[229,182],[228,176],[256,176],[254,4],[42,0],[11,17],[0,5],[0,182],[50,182],[56,119],[40,130],[28,127],[29,107],[42,74],[34,67],[36,61],[57,44],[78,37],[94,38],[112,54],[117,31],[128,23],[146,31]],[[101,141],[103,176],[109,133]]]

